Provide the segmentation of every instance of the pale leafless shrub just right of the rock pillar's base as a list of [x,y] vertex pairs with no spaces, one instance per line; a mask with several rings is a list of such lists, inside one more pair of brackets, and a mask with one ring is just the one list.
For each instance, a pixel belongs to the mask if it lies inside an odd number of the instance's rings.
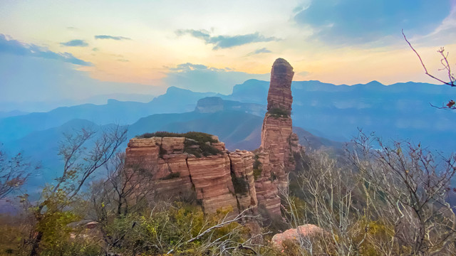
[[[304,157],[304,156],[301,156]],[[286,216],[292,228],[312,223],[326,231],[319,234],[321,239],[301,237],[300,246],[304,255],[313,252],[331,255],[351,255],[359,252],[363,243],[360,238],[366,235],[366,228],[359,228],[363,210],[359,205],[360,179],[348,166],[339,164],[323,151],[306,153],[308,162],[296,176],[299,193],[304,203],[296,203],[296,198],[282,192],[287,208]],[[358,200],[358,204],[355,203]]]

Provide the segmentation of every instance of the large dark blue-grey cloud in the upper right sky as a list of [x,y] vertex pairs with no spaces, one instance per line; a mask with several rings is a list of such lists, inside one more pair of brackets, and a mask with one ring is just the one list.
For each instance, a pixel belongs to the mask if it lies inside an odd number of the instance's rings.
[[450,0],[311,1],[294,21],[327,43],[369,43],[390,35],[430,33],[450,14]]

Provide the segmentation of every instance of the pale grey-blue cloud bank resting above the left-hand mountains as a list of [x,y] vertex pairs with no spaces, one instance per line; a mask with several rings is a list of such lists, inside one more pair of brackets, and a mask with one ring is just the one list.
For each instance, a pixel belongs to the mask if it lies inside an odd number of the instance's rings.
[[[14,110],[11,106],[36,106],[27,111],[45,111],[86,103],[89,97],[108,94],[153,94],[165,87],[125,82],[105,82],[90,78],[86,71],[76,70],[70,63],[32,55],[0,52],[0,111]],[[16,102],[17,104],[13,104]],[[36,103],[33,103],[36,102]],[[40,103],[42,102],[42,103]]]

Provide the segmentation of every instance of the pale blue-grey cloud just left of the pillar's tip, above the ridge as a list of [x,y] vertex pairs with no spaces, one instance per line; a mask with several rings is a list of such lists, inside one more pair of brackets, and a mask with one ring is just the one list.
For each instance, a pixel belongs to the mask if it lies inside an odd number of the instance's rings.
[[163,78],[167,86],[177,86],[195,92],[229,94],[234,85],[245,80],[269,80],[269,74],[249,74],[234,71],[231,68],[212,68],[193,63],[182,63],[168,70],[167,77]]

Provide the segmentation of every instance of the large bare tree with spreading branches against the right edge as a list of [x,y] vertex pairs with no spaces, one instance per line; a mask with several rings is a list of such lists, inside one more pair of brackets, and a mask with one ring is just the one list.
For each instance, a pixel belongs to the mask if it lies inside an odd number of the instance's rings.
[[[455,208],[448,203],[456,156],[436,159],[420,144],[361,135],[351,159],[363,176],[371,218],[392,227],[379,245],[385,255],[450,255],[455,250]],[[375,199],[376,198],[376,199]]]

